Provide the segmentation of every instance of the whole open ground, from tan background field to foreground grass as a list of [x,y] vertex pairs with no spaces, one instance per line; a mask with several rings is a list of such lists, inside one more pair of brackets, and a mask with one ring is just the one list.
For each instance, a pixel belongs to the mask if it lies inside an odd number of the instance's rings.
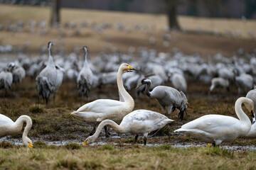
[[[35,32],[28,31],[27,22],[30,20],[49,20],[49,8],[28,6],[1,5],[0,24],[11,20],[26,22],[21,32],[0,30],[2,45],[11,44],[21,47],[26,41],[30,45],[24,51],[31,57],[39,55],[39,47],[46,46],[48,41],[54,41],[54,49],[63,45],[65,54],[73,52],[73,47],[87,45],[92,59],[99,52],[117,51],[127,53],[130,46],[154,48],[157,52],[170,52],[178,47],[186,55],[198,52],[202,57],[221,52],[225,57],[232,57],[239,48],[251,53],[255,50],[255,38],[248,37],[247,32],[256,33],[256,22],[243,23],[238,19],[207,19],[179,16],[181,27],[193,30],[193,33],[171,31],[169,46],[163,45],[166,34],[166,16],[138,13],[118,13],[107,11],[61,10],[62,23],[77,23],[75,28],[46,28],[47,33],[41,35],[39,28]],[[89,26],[80,28],[86,21]],[[112,26],[101,32],[97,30],[102,22]],[[117,23],[123,23],[124,30],[117,30]],[[136,24],[144,24],[142,30],[134,29]],[[76,31],[79,28],[79,34]],[[200,29],[200,30],[198,30]],[[225,35],[225,30],[236,32],[242,30],[242,35]],[[201,33],[201,30],[213,32]],[[222,33],[222,35],[215,35]],[[155,38],[154,44],[149,38]],[[1,45],[0,44],[0,45]],[[53,50],[54,50],[53,49]],[[13,60],[16,51],[0,54]],[[65,55],[66,57],[66,55]],[[82,57],[82,54],[80,54]],[[10,59],[11,58],[11,59]],[[128,74],[128,73],[126,73]],[[2,138],[0,142],[0,169],[256,169],[256,138],[241,137],[234,142],[223,143],[223,149],[206,147],[196,139],[186,135],[176,135],[174,130],[184,123],[188,123],[202,115],[222,114],[237,118],[234,104],[238,97],[238,88],[231,84],[230,91],[215,89],[208,94],[210,84],[203,81],[188,82],[188,115],[178,119],[178,111],[171,115],[176,120],[161,129],[156,136],[150,137],[147,146],[142,146],[142,137],[138,144],[132,145],[134,136],[131,134],[118,135],[110,130],[110,137],[106,138],[102,130],[95,145],[82,147],[82,142],[92,130],[83,120],[74,118],[70,113],[83,104],[98,98],[119,99],[117,86],[102,86],[90,91],[88,100],[78,97],[76,82],[63,81],[53,102],[50,98],[48,106],[38,101],[35,79],[26,77],[21,84],[13,84],[11,91],[5,96],[4,89],[0,90],[0,113],[16,120],[20,115],[29,115],[33,126],[28,137],[33,141],[33,148],[21,146],[22,132],[12,137]],[[171,84],[166,84],[171,86]],[[161,106],[154,99],[147,96],[136,98],[135,91],[129,91],[135,102],[134,110],[148,109],[162,113]],[[247,113],[249,115],[249,113]],[[169,140],[168,131],[171,139]],[[153,135],[153,133],[152,133]],[[151,134],[149,135],[151,136]],[[59,146],[60,145],[60,146]],[[192,147],[188,147],[192,146]],[[184,148],[188,147],[188,148]],[[238,151],[238,152],[236,152]]]

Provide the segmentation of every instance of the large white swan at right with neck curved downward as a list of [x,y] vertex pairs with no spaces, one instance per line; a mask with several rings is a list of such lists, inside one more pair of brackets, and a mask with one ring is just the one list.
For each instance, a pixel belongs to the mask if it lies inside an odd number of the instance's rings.
[[253,101],[240,97],[235,102],[235,113],[239,120],[227,115],[203,115],[174,132],[186,133],[203,142],[213,143],[213,145],[233,141],[237,137],[246,135],[251,129],[250,119],[242,111],[242,103],[253,114]]

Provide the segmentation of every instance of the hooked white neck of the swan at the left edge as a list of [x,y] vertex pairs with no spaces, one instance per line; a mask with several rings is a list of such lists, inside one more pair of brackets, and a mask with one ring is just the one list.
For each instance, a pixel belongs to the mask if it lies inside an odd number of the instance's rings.
[[23,123],[26,123],[26,127],[24,128],[23,135],[22,135],[23,143],[25,143],[24,140],[26,137],[28,137],[28,132],[32,127],[32,120],[28,115],[21,115],[14,123],[15,124],[14,128],[16,128],[16,130],[21,131],[23,127]]

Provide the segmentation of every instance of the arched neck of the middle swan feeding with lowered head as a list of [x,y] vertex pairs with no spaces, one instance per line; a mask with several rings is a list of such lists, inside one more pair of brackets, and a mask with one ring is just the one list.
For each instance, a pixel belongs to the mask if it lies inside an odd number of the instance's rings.
[[115,123],[113,120],[103,120],[100,123],[100,125],[97,127],[95,134],[90,136],[92,139],[92,142],[95,142],[97,137],[99,137],[102,128],[104,128],[106,125],[110,125],[111,128],[113,128],[113,130],[117,133],[124,133],[124,129],[122,129],[122,127],[120,125],[117,125],[117,123]]

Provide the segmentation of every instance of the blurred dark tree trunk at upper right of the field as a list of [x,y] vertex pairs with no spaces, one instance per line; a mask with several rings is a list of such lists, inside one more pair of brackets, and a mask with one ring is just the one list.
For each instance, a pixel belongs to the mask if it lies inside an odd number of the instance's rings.
[[169,27],[180,30],[180,26],[177,20],[177,2],[176,0],[166,0],[167,16],[169,21]]

